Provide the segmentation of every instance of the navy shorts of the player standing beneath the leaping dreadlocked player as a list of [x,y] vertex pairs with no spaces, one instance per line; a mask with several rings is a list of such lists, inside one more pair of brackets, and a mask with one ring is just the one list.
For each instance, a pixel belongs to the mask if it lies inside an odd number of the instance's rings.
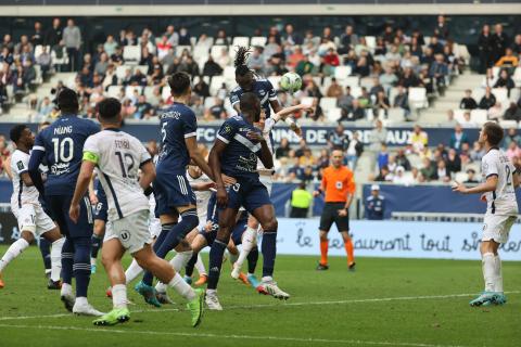
[[229,188],[228,192],[228,208],[239,209],[244,207],[250,214],[264,205],[271,205],[268,190],[256,180],[241,180]]

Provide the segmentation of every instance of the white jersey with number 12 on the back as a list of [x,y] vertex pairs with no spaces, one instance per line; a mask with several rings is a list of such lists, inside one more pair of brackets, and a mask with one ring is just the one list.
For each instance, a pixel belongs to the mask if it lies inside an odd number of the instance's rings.
[[97,164],[110,221],[149,209],[149,198],[139,185],[138,171],[152,158],[138,139],[118,129],[105,129],[87,139],[84,159]]

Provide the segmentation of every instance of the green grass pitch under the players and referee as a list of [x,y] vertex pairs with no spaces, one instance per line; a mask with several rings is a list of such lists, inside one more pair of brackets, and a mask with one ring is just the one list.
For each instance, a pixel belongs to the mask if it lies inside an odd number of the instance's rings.
[[[287,303],[234,282],[227,264],[219,283],[225,310],[206,311],[196,329],[185,305],[153,308],[134,285],[131,320],[97,327],[46,288],[39,252],[30,247],[3,275],[0,346],[521,346],[521,262],[504,264],[507,305],[471,308],[482,288],[479,261],[358,258],[348,272],[345,258],[331,258],[331,269],[317,272],[316,260],[278,257],[276,279],[292,295]],[[104,311],[112,306],[107,283],[100,269],[89,290]]]

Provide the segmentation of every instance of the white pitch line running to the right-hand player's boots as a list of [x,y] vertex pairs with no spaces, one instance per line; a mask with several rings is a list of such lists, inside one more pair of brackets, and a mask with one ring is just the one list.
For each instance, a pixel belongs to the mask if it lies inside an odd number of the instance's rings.
[[[511,291],[505,292],[505,294],[520,294],[521,291]],[[335,301],[307,301],[307,303],[288,303],[283,301],[282,304],[257,304],[257,305],[236,305],[236,306],[226,306],[226,310],[237,310],[237,309],[250,309],[250,308],[269,308],[269,307],[298,307],[298,306],[315,306],[315,305],[346,305],[346,304],[364,304],[364,303],[389,303],[389,301],[408,301],[408,300],[433,300],[433,299],[448,299],[448,298],[458,298],[458,297],[469,297],[474,296],[475,293],[471,294],[448,294],[448,295],[425,295],[425,296],[397,296],[397,297],[381,297],[381,298],[369,298],[369,299],[348,299],[348,300],[335,300]],[[134,313],[161,313],[161,312],[177,312],[182,311],[179,308],[162,308],[162,309],[141,309],[141,310],[131,310]],[[0,317],[0,321],[11,321],[11,320],[27,320],[27,319],[43,319],[43,318],[61,318],[61,317],[71,317],[71,313],[56,313],[56,314],[43,314],[43,316],[15,316],[15,317]]]

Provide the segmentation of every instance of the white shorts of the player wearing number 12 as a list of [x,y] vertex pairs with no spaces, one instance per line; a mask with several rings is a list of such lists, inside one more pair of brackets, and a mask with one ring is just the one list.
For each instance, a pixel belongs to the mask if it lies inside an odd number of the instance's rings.
[[112,239],[118,239],[130,254],[142,249],[145,244],[151,244],[149,210],[138,210],[127,217],[113,220],[107,224],[103,242]]

